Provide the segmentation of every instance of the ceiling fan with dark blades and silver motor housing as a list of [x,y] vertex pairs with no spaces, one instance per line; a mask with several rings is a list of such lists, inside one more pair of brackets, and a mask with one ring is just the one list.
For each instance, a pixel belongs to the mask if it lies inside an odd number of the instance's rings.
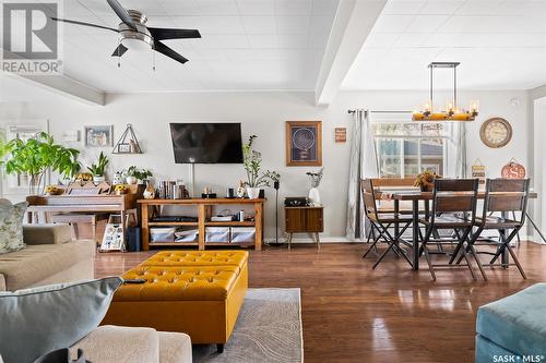
[[201,38],[198,29],[171,29],[163,27],[149,27],[146,26],[147,17],[142,12],[136,10],[126,10],[117,0],[106,0],[110,8],[121,20],[118,28],[102,26],[97,24],[84,23],[68,19],[51,17],[57,22],[64,22],[75,25],[98,27],[102,29],[112,31],[119,34],[120,41],[118,47],[111,53],[111,57],[121,57],[130,48],[134,49],[150,49],[165,55],[177,62],[186,63],[188,59],[167,47],[161,40],[166,39],[188,39]]

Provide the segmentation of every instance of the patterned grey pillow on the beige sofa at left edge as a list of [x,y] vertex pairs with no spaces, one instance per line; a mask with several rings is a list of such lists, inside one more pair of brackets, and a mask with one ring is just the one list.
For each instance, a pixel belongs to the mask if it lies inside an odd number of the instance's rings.
[[26,202],[15,205],[0,203],[0,255],[24,249],[23,217]]

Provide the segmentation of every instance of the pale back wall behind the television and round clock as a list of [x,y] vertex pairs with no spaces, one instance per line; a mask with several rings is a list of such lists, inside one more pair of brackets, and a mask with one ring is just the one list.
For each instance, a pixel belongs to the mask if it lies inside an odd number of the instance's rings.
[[[460,99],[479,99],[478,120],[468,123],[468,164],[479,156],[488,177],[500,176],[501,167],[514,157],[527,166],[527,95],[525,92],[461,93]],[[518,98],[520,106],[511,106]],[[316,108],[312,93],[200,93],[200,94],[124,94],[107,95],[106,106],[86,106],[73,100],[33,101],[21,107],[17,102],[0,104],[0,120],[48,119],[58,141],[66,130],[83,130],[83,125],[114,124],[115,138],[132,123],[145,150],[143,155],[112,155],[114,169],[130,165],[151,168],[158,179],[188,179],[188,167],[175,165],[168,131],[169,122],[241,122],[244,137],[259,136],[257,148],[263,154],[265,169],[282,174],[281,201],[284,196],[306,195],[305,172],[311,168],[285,166],[285,121],[323,121],[324,179],[321,196],[325,204],[325,238],[345,234],[345,201],[347,195],[349,143],[334,143],[334,128],[347,126],[351,137],[352,117],[348,109],[412,110],[423,104],[426,92],[342,93],[329,108]],[[503,117],[513,126],[512,142],[501,149],[489,149],[479,141],[479,126],[489,117]],[[78,145],[82,147],[82,145]],[[109,152],[110,149],[108,149]],[[91,161],[97,150],[84,150]],[[529,169],[529,168],[527,168]],[[198,165],[197,191],[212,186],[223,193],[244,178],[242,166]],[[268,191],[265,235],[274,235],[273,191]],[[280,216],[281,228],[283,216]]]

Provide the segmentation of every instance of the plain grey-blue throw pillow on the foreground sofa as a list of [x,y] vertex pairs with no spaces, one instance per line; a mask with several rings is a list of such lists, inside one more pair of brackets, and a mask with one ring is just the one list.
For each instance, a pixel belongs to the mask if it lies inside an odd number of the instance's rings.
[[0,355],[34,362],[73,346],[103,320],[120,277],[0,292]]

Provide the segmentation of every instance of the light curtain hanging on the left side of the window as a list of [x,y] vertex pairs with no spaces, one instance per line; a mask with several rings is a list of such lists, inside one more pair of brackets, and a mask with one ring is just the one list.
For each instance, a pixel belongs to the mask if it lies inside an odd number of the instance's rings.
[[379,170],[368,110],[356,110],[353,113],[351,135],[346,237],[357,240],[366,235],[360,180],[377,178]]

